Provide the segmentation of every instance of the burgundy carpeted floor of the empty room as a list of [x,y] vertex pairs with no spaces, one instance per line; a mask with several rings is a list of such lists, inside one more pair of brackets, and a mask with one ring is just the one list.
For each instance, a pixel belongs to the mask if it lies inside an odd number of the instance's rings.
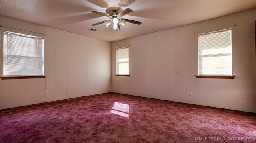
[[0,143],[256,143],[256,114],[106,93],[0,110]]

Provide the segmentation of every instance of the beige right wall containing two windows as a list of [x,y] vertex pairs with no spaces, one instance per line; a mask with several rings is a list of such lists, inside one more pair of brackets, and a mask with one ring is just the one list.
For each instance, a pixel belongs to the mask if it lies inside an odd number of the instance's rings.
[[[113,42],[112,92],[256,112],[254,21],[251,9]],[[236,77],[197,79],[197,35],[228,28]],[[130,77],[116,77],[115,47],[124,45],[130,45]]]

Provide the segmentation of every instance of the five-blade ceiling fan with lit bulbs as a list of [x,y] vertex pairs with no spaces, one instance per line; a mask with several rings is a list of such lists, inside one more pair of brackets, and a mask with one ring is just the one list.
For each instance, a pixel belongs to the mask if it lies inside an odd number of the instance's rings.
[[92,24],[92,26],[96,26],[96,25],[105,23],[106,27],[108,27],[111,24],[111,22],[113,22],[114,23],[113,29],[118,31],[118,30],[121,30],[120,29],[120,24],[124,27],[126,22],[132,23],[132,24],[138,24],[138,25],[141,24],[141,22],[138,22],[138,21],[135,21],[135,20],[128,20],[128,19],[122,18],[126,14],[129,14],[130,12],[132,12],[132,10],[130,8],[126,8],[122,12],[120,12],[120,9],[121,8],[118,8],[118,7],[110,7],[110,8],[108,8],[106,10],[106,12],[108,14],[105,14],[105,13],[102,13],[102,12],[97,12],[95,10],[91,11],[91,12],[93,12],[95,14],[100,14],[102,16],[106,16],[106,17],[110,18],[110,20],[104,20],[102,22],[98,22],[96,24]]

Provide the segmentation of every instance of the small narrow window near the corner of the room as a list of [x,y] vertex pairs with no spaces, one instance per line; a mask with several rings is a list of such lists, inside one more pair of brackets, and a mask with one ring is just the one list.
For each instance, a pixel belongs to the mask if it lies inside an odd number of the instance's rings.
[[129,47],[116,49],[116,75],[129,75]]

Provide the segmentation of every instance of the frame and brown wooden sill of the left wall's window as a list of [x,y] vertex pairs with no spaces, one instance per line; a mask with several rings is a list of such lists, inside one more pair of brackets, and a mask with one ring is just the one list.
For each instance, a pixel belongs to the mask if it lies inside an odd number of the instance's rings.
[[[4,75],[4,62],[2,63],[2,74],[1,74],[1,79],[2,80],[5,80],[5,79],[28,79],[28,78],[45,78],[46,76],[44,75],[44,38],[43,37],[39,37],[39,36],[34,36],[34,35],[30,35],[30,34],[24,34],[24,33],[17,33],[17,32],[10,32],[10,31],[3,31],[3,35],[7,33],[7,34],[11,34],[11,35],[16,35],[16,36],[19,36],[19,37],[25,37],[25,38],[34,38],[34,39],[41,39],[42,40],[42,74],[24,74],[24,75]],[[4,36],[3,36],[3,43],[4,43]],[[3,55],[2,55],[2,60],[4,59],[4,45],[3,45],[3,48],[2,48],[2,52],[3,52]]]

